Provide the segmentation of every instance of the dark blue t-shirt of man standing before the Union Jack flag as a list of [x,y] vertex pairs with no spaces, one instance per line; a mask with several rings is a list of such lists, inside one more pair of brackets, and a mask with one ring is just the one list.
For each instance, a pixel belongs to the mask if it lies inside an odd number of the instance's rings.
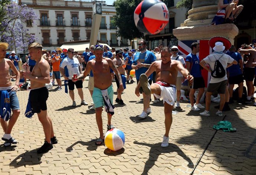
[[193,77],[202,77],[199,57],[193,53],[188,54],[186,62],[190,62],[190,74]]

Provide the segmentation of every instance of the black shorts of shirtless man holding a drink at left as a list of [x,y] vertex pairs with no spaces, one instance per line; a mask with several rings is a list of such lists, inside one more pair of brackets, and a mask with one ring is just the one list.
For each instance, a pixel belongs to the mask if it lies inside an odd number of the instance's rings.
[[30,91],[30,103],[33,113],[39,113],[41,110],[47,110],[46,100],[48,99],[49,92],[47,87],[32,89]]

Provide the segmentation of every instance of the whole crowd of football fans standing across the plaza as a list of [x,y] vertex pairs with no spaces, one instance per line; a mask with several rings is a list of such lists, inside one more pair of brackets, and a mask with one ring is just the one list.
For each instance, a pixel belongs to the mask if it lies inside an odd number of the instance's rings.
[[[126,89],[126,84],[134,83],[130,76],[132,69],[135,70],[137,86],[135,95],[142,94],[143,110],[139,118],[147,118],[152,113],[150,108],[151,94],[154,96],[154,103],[163,99],[165,113],[165,134],[162,147],[168,146],[169,132],[172,123],[173,108],[180,107],[181,84],[187,80],[190,86],[189,99],[191,110],[204,111],[199,113],[202,116],[210,116],[211,96],[219,93],[220,105],[217,106],[217,116],[222,116],[222,112],[230,110],[229,103],[233,103],[233,88],[238,85],[237,103],[246,105],[252,102],[254,86],[256,86],[255,66],[256,66],[256,46],[247,44],[236,52],[230,41],[224,37],[213,37],[209,40],[209,45],[213,48],[213,54],[200,61],[197,53],[200,51],[200,44],[191,44],[191,53],[184,59],[179,56],[177,46],[164,47],[159,44],[154,50],[147,49],[147,42],[139,40],[138,52],[129,48],[112,48],[99,44],[92,45],[85,49],[82,55],[78,55],[73,48],[52,50],[46,52],[39,43],[29,45],[29,55],[27,63],[23,66],[30,66],[30,72],[19,70],[15,52],[11,56],[6,54],[7,43],[0,43],[0,75],[4,77],[0,82],[1,92],[1,126],[4,130],[2,140],[4,146],[16,144],[17,141],[11,136],[12,128],[20,114],[19,100],[16,91],[19,88],[21,76],[30,80],[31,91],[26,109],[26,116],[31,117],[37,113],[39,121],[42,123],[45,132],[45,143],[37,152],[45,153],[53,148],[53,144],[58,140],[53,131],[52,119],[47,113],[46,101],[49,95],[46,84],[52,81],[57,82],[57,90],[62,90],[61,76],[63,77],[65,92],[69,93],[72,106],[76,106],[74,89],[78,90],[81,105],[88,105],[83,96],[83,80],[89,75],[88,89],[93,100],[93,105],[89,108],[95,110],[96,123],[99,130],[99,138],[96,145],[104,142],[102,107],[108,114],[107,130],[114,128],[111,124],[114,115],[114,89],[112,83],[117,86],[117,97],[115,102],[119,105],[126,105],[122,99],[122,92]],[[207,85],[202,76],[201,70],[206,69],[210,74],[210,82]],[[10,73],[9,70],[12,70]],[[12,76],[12,73],[15,76]],[[51,80],[52,76],[52,80]],[[12,81],[16,82],[13,86]],[[246,81],[247,94],[243,96],[243,80]],[[196,100],[194,94],[198,90]],[[200,104],[200,99],[205,93],[206,106]],[[9,100],[5,100],[9,99]],[[88,97],[87,97],[88,100]],[[3,101],[3,103],[2,103]],[[127,104],[128,105],[128,104]],[[254,104],[256,106],[256,103]],[[4,110],[3,110],[4,109]],[[12,115],[11,115],[12,110]],[[7,122],[9,120],[9,122]]]

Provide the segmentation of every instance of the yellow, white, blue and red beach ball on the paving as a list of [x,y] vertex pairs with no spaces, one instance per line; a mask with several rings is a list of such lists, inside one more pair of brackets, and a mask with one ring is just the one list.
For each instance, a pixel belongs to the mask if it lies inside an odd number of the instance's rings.
[[104,142],[108,149],[111,149],[112,151],[117,151],[124,147],[124,133],[116,128],[110,129],[108,132],[106,132]]

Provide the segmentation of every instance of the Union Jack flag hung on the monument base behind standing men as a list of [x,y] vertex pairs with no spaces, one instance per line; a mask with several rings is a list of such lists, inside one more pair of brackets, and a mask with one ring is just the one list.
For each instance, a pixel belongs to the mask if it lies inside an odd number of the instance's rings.
[[[185,59],[185,61],[186,61],[187,55],[191,52],[190,46],[193,42],[199,43],[200,51],[199,51],[199,53],[197,53],[197,55],[199,56],[200,60],[204,59],[205,57],[207,57],[208,55],[213,53],[212,48],[208,44],[209,40],[178,41],[178,49],[179,49],[178,55],[182,56]],[[207,87],[208,83],[210,82],[211,74],[205,69],[201,70],[201,72],[202,72],[202,76],[204,78],[205,86]]]

